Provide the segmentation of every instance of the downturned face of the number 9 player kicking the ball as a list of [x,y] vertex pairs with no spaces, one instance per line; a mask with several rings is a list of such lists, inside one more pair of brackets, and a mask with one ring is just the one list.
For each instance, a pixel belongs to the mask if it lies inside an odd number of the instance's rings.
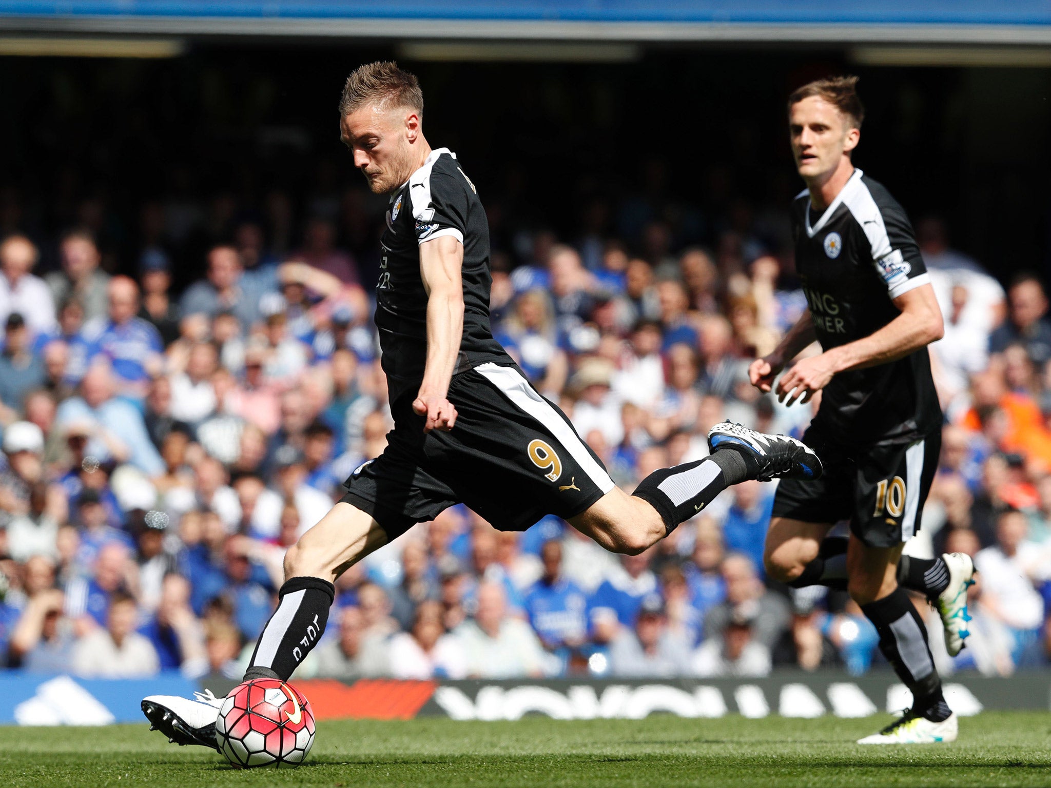
[[411,139],[419,119],[412,110],[382,110],[364,106],[339,122],[339,139],[350,148],[354,166],[362,170],[376,194],[394,191],[412,174]]

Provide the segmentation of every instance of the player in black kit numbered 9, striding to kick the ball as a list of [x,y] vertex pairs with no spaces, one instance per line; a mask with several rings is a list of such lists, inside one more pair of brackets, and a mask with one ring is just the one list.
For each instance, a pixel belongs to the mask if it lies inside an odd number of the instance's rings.
[[[489,226],[456,155],[431,148],[416,78],[394,63],[347,80],[339,129],[372,191],[390,195],[375,322],[394,430],[345,482],[347,494],[285,556],[277,609],[245,679],[288,680],[314,647],[349,566],[444,509],[466,503],[495,527],[562,517],[607,549],[637,554],[749,478],[818,478],[791,438],[726,434],[710,457],[656,471],[628,495],[570,420],[530,386],[489,323]],[[724,426],[727,427],[728,426]],[[215,747],[221,701],[151,696],[153,727]]]

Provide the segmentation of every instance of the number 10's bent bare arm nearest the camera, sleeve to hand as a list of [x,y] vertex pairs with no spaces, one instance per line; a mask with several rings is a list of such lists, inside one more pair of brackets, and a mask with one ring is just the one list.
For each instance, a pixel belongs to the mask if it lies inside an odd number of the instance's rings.
[[790,405],[802,397],[806,402],[839,372],[895,361],[942,338],[942,310],[929,284],[907,290],[893,303],[901,313],[879,331],[796,364],[778,382],[778,399]]

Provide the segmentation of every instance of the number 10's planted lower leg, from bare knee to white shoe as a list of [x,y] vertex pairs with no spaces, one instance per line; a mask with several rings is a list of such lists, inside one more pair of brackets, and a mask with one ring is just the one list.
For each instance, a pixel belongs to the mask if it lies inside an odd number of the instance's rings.
[[901,545],[872,547],[851,536],[847,552],[851,598],[875,626],[880,650],[912,692],[912,708],[859,744],[932,744],[956,739],[956,716],[927,645],[927,629],[908,593],[898,584]]

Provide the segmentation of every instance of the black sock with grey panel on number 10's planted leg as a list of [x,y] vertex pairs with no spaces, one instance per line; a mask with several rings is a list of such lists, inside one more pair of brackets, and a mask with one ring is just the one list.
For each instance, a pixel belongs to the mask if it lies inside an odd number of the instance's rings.
[[911,690],[912,711],[933,722],[945,720],[952,712],[942,694],[942,680],[927,645],[927,628],[906,590],[899,586],[861,609],[880,634],[883,656]]

